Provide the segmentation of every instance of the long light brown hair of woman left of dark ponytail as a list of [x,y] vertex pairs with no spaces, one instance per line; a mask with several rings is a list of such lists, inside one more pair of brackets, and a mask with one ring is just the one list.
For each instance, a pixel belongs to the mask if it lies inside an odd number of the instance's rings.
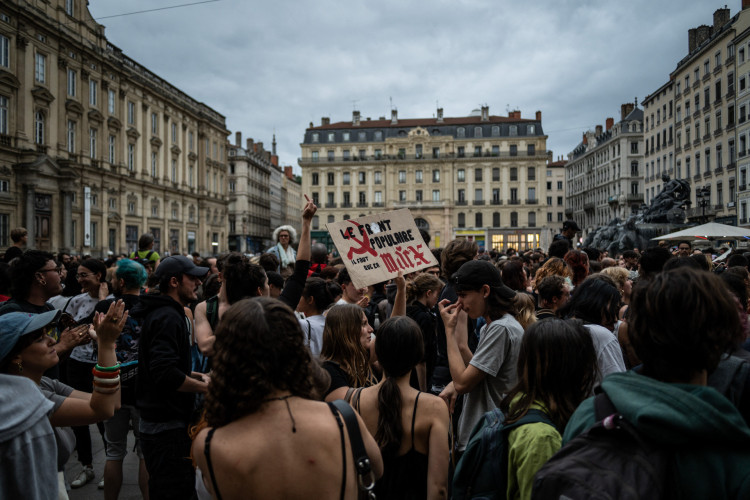
[[328,311],[323,328],[320,359],[338,363],[351,387],[364,387],[370,378],[369,353],[360,342],[363,315],[358,305],[337,305]]

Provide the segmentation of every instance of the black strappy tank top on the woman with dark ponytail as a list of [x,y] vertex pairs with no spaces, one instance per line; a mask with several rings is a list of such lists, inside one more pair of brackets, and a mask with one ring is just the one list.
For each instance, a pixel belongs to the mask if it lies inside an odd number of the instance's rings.
[[411,448],[403,455],[383,457],[383,477],[375,484],[377,498],[419,500],[427,498],[427,455],[414,449],[414,422],[419,395],[411,417]]

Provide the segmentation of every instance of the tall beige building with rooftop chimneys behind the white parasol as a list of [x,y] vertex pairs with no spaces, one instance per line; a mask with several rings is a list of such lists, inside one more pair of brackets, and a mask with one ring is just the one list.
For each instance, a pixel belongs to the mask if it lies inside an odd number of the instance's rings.
[[[733,17],[728,8],[718,9],[711,26],[688,30],[688,55],[670,74],[676,176],[692,188],[690,221],[737,224],[737,162],[747,155],[746,138],[739,143],[737,139],[738,126],[747,120],[747,105],[740,102],[738,92],[745,95],[747,82],[738,80],[742,62],[735,37],[750,26],[747,3]],[[743,59],[746,50],[742,48]],[[738,82],[743,89],[736,90]],[[648,118],[650,131],[654,118],[652,114]],[[649,162],[652,154],[663,158],[664,150],[649,148]]]

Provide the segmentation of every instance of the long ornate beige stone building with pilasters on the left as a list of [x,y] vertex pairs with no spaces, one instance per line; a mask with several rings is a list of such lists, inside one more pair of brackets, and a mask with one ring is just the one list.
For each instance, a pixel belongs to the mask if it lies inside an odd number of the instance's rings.
[[111,44],[82,0],[0,4],[0,246],[226,250],[225,118]]

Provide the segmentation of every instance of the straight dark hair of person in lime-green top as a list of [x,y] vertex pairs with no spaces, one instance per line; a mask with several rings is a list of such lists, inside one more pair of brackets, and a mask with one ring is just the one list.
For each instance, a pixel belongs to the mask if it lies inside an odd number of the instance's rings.
[[518,383],[500,404],[505,422],[516,422],[539,401],[562,432],[594,387],[597,367],[591,335],[580,321],[537,321],[523,336],[517,369]]

